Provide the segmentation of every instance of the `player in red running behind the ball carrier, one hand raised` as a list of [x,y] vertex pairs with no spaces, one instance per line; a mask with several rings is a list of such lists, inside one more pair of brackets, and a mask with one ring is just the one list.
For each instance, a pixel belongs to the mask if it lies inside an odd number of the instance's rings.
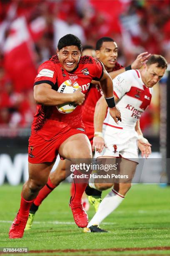
[[[85,54],[85,51],[84,51],[84,54]],[[88,49],[88,52],[86,54],[94,54],[94,53],[93,53],[93,50],[90,52],[90,49]],[[109,37],[102,37],[97,41],[96,54],[98,59],[102,61],[102,63],[104,64],[107,72],[110,72],[109,74],[112,77],[112,79],[116,77],[117,74],[125,72],[125,70],[127,69],[130,69],[130,68],[139,69],[142,66],[142,63],[144,63],[150,56],[148,52],[144,52],[138,55],[137,59],[133,62],[131,67],[123,68],[119,63],[117,63],[117,44],[112,38],[109,38]],[[94,82],[96,84],[94,84]],[[83,109],[82,109],[82,120],[85,125],[86,134],[91,142],[91,145],[92,145],[92,139],[94,137],[93,119],[94,119],[95,105],[96,105],[96,102],[101,97],[101,95],[102,95],[102,92],[99,85],[97,84],[96,81],[92,81],[92,84],[90,84],[90,91],[87,94],[87,99],[85,100],[83,104]],[[31,228],[32,221],[35,216],[35,212],[37,211],[41,202],[64,179],[65,179],[65,161],[60,160],[55,171],[50,174],[47,184],[40,190],[35,201],[32,203],[30,207],[28,223],[25,228],[26,230],[29,230]],[[96,189],[92,189],[90,187],[88,187],[86,191],[88,195],[94,195],[95,197],[97,197],[96,200],[94,200],[95,198],[92,198],[92,197],[90,199],[91,199],[91,202],[95,202],[95,206],[98,205],[98,203],[101,200],[100,199],[101,192]],[[72,183],[72,195],[74,195],[74,193],[75,193],[75,186],[74,186],[74,183]]]

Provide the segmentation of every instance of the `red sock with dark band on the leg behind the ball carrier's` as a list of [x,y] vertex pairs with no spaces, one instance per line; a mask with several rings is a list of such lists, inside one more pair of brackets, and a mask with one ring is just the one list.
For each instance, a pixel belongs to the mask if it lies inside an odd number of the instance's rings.
[[39,206],[42,203],[42,201],[47,197],[47,195],[49,195],[52,192],[52,190],[55,189],[55,187],[56,186],[52,184],[50,178],[48,177],[47,184],[38,193],[37,197],[34,200],[34,204]]

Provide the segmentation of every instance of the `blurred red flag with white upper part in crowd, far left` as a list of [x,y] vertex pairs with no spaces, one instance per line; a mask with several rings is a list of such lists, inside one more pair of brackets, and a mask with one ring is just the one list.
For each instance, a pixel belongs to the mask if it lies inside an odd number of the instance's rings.
[[25,17],[14,20],[5,41],[5,69],[15,91],[25,91],[33,86],[36,76],[32,38]]

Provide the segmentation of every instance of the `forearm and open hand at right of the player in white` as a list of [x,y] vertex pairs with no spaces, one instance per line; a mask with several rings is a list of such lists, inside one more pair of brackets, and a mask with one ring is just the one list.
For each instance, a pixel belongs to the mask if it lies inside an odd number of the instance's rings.
[[143,137],[143,133],[140,129],[140,120],[136,122],[135,131],[138,133],[138,148],[141,151],[142,157],[148,158],[151,154],[151,144],[148,142],[146,138]]

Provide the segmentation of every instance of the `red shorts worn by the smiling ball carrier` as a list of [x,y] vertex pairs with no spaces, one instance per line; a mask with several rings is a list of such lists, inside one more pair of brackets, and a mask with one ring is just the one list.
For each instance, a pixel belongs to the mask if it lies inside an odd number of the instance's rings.
[[60,145],[67,138],[77,133],[86,134],[84,128],[67,128],[63,130],[62,133],[58,133],[57,136],[53,137],[51,140],[45,140],[38,134],[32,133],[29,138],[28,161],[31,164],[55,161]]

